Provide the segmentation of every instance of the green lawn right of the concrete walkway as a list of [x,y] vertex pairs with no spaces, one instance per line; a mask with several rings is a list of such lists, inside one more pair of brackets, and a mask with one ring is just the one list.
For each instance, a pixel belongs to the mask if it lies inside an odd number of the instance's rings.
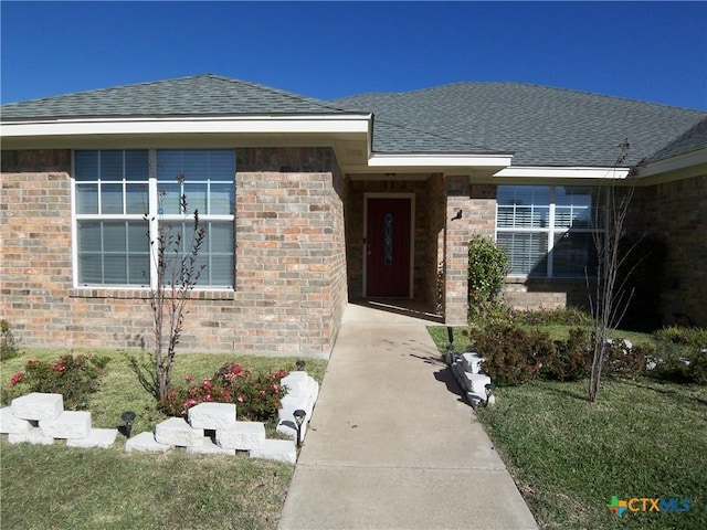
[[[457,351],[468,343],[462,331],[455,330]],[[444,351],[446,328],[430,333]],[[605,378],[598,401],[589,403],[587,385],[500,388],[495,406],[477,410],[539,527],[707,528],[707,386]],[[692,510],[619,518],[608,509],[612,496],[688,497]]]

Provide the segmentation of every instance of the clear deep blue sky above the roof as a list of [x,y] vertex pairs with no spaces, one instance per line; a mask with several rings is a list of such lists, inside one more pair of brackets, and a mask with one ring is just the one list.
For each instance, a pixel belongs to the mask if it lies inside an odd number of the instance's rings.
[[511,81],[707,109],[707,2],[0,2],[2,103],[213,73],[321,99]]

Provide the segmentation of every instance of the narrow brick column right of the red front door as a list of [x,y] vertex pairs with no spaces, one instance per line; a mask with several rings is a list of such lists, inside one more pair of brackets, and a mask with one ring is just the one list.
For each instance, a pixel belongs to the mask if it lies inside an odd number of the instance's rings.
[[468,314],[468,241],[472,234],[468,176],[447,176],[445,183],[444,320],[450,326],[464,326]]

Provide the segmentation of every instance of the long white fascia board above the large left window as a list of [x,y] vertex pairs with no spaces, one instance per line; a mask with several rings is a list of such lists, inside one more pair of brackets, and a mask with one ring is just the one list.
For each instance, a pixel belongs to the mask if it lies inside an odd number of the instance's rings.
[[363,134],[371,115],[346,116],[249,116],[189,118],[95,118],[6,121],[4,138],[82,135],[179,135],[179,134]]

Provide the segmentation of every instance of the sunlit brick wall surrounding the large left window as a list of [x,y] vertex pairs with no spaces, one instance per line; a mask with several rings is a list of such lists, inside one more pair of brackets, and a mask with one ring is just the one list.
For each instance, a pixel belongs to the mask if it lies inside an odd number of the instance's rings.
[[[181,348],[329,352],[346,304],[344,179],[334,155],[236,157],[236,289],[192,293]],[[145,292],[72,287],[70,152],[2,159],[2,318],[25,346],[149,347]]]

